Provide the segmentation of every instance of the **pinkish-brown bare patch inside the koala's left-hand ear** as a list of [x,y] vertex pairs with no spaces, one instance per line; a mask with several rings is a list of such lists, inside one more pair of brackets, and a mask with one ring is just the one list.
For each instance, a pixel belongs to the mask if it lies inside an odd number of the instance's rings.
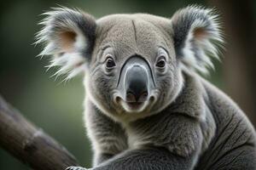
[[73,31],[63,31],[60,33],[61,48],[64,52],[73,52],[76,37],[77,34]]

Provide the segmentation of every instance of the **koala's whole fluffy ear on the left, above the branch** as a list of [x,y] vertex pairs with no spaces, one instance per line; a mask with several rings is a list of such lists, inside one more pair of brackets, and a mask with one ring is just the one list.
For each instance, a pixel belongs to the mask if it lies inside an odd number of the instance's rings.
[[83,72],[90,62],[96,38],[96,20],[89,14],[70,8],[53,8],[40,23],[37,43],[44,43],[39,55],[50,55],[49,68],[59,66],[54,76],[67,75],[66,79]]

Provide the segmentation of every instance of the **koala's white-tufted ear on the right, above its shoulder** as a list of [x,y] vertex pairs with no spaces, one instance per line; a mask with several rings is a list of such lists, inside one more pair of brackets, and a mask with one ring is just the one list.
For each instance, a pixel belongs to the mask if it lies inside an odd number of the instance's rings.
[[185,68],[207,73],[214,67],[210,56],[218,58],[223,37],[218,16],[211,9],[189,6],[172,16],[173,41],[177,58]]

